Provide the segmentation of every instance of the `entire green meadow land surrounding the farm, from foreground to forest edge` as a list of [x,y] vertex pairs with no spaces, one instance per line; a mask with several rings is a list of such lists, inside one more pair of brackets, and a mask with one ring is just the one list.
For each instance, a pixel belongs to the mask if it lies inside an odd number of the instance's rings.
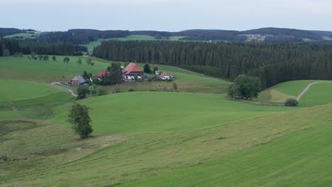
[[[330,186],[332,84],[262,91],[260,102],[226,98],[229,81],[157,65],[175,80],[125,82],[123,93],[75,100],[51,86],[94,66],[0,57],[0,186]],[[143,67],[143,64],[139,64]],[[152,65],[154,67],[154,65]],[[178,91],[170,91],[173,82]],[[134,92],[127,89],[135,87]],[[71,89],[76,89],[74,86]],[[107,87],[110,91],[114,86]],[[151,90],[151,91],[149,91]],[[331,95],[331,94],[330,94]],[[74,102],[91,108],[94,132],[74,135]]]

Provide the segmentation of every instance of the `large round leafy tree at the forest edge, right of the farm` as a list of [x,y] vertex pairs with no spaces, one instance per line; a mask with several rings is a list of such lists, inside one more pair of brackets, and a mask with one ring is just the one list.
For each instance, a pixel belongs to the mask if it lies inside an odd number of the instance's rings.
[[261,91],[262,83],[258,77],[240,74],[228,87],[228,96],[233,98],[250,99],[257,98]]

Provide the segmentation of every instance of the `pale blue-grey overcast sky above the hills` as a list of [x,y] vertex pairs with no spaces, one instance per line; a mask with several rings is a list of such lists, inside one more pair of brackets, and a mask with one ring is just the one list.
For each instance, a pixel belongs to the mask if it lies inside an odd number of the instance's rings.
[[0,27],[332,30],[331,7],[331,0],[0,0]]

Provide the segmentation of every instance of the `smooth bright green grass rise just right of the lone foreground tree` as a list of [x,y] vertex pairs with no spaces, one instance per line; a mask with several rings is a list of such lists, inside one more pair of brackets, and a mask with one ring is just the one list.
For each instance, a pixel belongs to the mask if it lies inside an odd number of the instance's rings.
[[[95,132],[100,134],[195,130],[289,110],[174,92],[111,94],[90,98],[82,103],[92,108],[92,125]],[[58,109],[55,113],[59,115],[52,121],[65,123],[66,109],[69,108],[61,106]]]

